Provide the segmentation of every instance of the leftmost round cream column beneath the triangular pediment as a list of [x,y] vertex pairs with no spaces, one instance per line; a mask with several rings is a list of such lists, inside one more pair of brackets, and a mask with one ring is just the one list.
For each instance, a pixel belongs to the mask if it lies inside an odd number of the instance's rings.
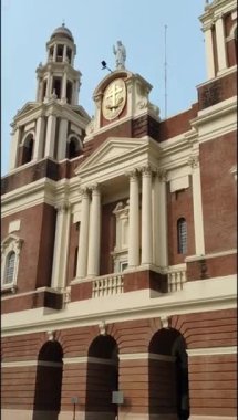
[[79,235],[79,251],[76,264],[76,277],[83,279],[87,272],[87,251],[89,251],[89,225],[90,225],[90,196],[89,189],[82,190],[82,210]]

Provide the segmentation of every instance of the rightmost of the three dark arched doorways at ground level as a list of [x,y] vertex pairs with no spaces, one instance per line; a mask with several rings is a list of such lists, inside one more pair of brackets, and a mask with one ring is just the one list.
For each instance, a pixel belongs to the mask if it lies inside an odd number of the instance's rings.
[[176,329],[158,330],[149,343],[149,414],[174,420],[189,418],[186,343]]

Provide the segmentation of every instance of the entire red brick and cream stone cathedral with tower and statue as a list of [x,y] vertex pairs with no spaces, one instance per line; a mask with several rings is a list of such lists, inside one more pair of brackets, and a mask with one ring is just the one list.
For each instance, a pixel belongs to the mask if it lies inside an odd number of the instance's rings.
[[46,43],[2,177],[2,420],[237,418],[236,2],[199,19],[165,119],[121,42],[92,118],[71,31]]

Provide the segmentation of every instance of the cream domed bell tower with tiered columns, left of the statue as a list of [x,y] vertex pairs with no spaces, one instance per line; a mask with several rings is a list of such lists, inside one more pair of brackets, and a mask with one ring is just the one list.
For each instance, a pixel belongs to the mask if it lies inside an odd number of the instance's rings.
[[56,161],[82,154],[87,113],[79,105],[81,72],[74,69],[71,31],[56,28],[46,43],[46,63],[37,69],[35,102],[28,102],[11,124],[10,170],[44,158]]

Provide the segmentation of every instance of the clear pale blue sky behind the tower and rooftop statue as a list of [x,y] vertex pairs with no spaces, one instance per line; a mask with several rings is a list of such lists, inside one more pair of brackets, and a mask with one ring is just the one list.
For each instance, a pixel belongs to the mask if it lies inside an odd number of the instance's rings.
[[9,168],[10,123],[35,99],[35,69],[45,62],[45,43],[62,24],[77,46],[82,72],[80,104],[94,114],[93,91],[105,76],[101,61],[115,69],[113,44],[126,48],[127,70],[152,85],[151,101],[165,115],[165,24],[167,25],[167,116],[197,101],[206,80],[205,44],[198,17],[205,0],[2,0],[1,2],[1,175]]

